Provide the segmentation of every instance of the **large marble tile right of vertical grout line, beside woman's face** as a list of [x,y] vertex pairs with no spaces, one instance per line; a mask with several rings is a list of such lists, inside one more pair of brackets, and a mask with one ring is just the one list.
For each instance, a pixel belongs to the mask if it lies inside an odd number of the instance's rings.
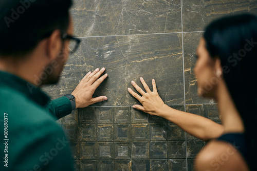
[[212,103],[212,99],[204,99],[197,95],[197,83],[194,75],[196,63],[195,53],[203,33],[184,33],[184,69],[186,103]]

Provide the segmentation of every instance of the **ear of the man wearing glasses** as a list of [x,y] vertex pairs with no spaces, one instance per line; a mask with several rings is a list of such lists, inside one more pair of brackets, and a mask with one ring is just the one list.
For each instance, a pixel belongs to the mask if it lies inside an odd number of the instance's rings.
[[60,54],[62,48],[61,31],[54,30],[47,40],[46,54],[49,60],[54,60]]

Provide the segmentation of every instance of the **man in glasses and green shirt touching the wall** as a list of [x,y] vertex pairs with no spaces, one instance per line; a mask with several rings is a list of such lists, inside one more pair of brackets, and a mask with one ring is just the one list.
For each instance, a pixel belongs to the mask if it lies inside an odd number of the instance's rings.
[[[57,83],[72,36],[71,0],[0,2],[0,170],[74,170],[68,141],[56,120],[75,108],[107,100],[92,98],[107,77],[89,72],[71,95],[49,100],[40,90]],[[69,47],[69,44],[74,48]]]

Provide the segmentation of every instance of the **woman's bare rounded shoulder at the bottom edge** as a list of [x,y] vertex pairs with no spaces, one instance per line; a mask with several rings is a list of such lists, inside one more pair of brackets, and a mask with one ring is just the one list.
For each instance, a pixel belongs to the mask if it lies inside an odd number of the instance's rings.
[[210,141],[195,159],[197,171],[248,171],[241,153],[225,141]]

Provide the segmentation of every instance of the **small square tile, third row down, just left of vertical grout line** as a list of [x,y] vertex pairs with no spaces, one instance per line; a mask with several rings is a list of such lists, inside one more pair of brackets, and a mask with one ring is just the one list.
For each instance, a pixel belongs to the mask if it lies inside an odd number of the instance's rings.
[[186,158],[186,142],[185,141],[168,141],[168,158]]

